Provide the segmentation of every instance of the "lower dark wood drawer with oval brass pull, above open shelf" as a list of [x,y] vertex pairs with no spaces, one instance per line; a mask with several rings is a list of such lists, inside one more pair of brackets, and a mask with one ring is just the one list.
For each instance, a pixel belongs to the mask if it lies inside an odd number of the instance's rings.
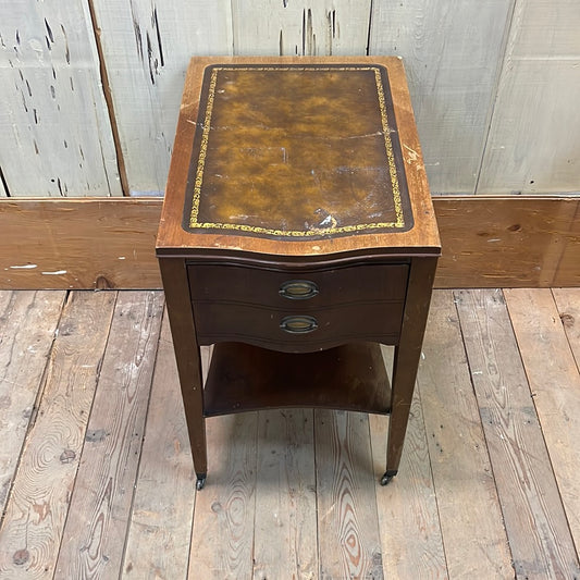
[[397,344],[403,303],[342,305],[304,314],[260,306],[194,303],[200,344],[240,342],[286,353],[309,353],[345,343]]

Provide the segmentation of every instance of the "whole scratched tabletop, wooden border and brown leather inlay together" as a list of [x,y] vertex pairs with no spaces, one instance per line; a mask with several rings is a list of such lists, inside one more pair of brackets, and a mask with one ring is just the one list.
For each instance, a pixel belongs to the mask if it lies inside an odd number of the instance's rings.
[[158,255],[440,254],[396,57],[195,57]]

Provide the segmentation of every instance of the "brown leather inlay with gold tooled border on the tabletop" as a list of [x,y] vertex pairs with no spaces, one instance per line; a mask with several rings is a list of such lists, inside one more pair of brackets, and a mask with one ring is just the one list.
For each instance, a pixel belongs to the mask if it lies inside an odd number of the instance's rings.
[[402,163],[382,66],[209,66],[184,227],[404,232],[412,215]]

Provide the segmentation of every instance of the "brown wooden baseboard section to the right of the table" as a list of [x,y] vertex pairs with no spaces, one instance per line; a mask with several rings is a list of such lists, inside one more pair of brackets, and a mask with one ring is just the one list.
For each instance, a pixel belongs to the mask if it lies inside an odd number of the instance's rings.
[[435,284],[580,286],[580,198],[441,197],[443,246]]

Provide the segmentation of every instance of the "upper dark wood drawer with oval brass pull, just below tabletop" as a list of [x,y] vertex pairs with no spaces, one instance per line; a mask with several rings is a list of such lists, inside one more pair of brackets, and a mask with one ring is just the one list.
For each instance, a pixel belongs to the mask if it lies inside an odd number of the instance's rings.
[[194,301],[309,309],[366,301],[403,301],[408,264],[365,264],[292,274],[245,266],[188,267]]

